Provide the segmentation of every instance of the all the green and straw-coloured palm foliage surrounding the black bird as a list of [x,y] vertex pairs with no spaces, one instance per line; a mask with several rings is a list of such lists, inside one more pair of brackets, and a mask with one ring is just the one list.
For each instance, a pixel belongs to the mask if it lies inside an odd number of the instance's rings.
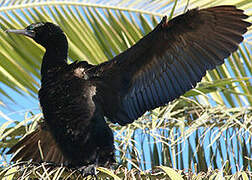
[[[37,98],[43,48],[6,29],[52,21],[62,27],[70,45],[69,61],[100,63],[122,52],[160,21],[187,8],[221,5],[217,0],[9,1],[0,4],[0,79],[21,95]],[[114,3],[113,3],[114,2]],[[252,21],[252,3],[232,1]],[[167,14],[168,13],[168,14]],[[170,14],[169,14],[170,13]],[[226,63],[207,73],[194,89],[166,107],[157,108],[115,132],[118,165],[98,168],[101,179],[251,179],[252,51],[251,32]],[[81,37],[81,38],[80,38]],[[20,48],[22,47],[22,49]],[[13,99],[1,89],[1,97]],[[4,104],[0,99],[0,103]],[[17,102],[20,103],[20,102]],[[2,114],[2,113],[1,113]],[[6,149],[33,131],[42,114],[0,127],[0,177],[5,179],[83,179],[78,171],[28,162],[10,165]],[[87,177],[89,179],[91,177]]]

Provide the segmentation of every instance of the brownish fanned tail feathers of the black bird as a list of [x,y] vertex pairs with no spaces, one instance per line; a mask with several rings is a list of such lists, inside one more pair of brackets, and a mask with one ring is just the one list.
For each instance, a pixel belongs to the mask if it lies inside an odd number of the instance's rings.
[[33,163],[68,164],[44,123],[40,124],[37,130],[25,136],[7,152],[7,154],[12,153],[14,153],[11,159],[13,162],[31,160]]

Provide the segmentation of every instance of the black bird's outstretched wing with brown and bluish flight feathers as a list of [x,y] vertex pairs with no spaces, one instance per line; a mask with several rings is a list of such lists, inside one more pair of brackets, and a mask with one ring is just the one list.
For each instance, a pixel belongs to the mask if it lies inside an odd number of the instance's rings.
[[164,17],[134,46],[97,66],[112,88],[121,88],[112,122],[131,123],[195,87],[206,70],[237,50],[250,26],[247,17],[234,6],[193,9],[170,21]]

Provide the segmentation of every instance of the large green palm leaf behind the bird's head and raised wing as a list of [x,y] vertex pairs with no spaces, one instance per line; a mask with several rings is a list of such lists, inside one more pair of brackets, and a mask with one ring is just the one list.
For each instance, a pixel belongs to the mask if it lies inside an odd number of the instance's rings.
[[[234,3],[240,8],[248,8],[244,1]],[[206,7],[217,5],[216,1],[192,1],[191,7]],[[173,8],[172,8],[173,7]],[[172,11],[170,9],[172,8]],[[187,8],[187,1],[16,1],[14,4],[6,1],[0,7],[0,73],[1,82],[19,93],[35,94],[39,88],[37,79],[43,49],[25,37],[8,35],[4,30],[23,28],[32,22],[51,21],[62,27],[68,36],[70,60],[88,60],[97,64],[112,58],[124,51],[143,35],[147,34],[159,22],[160,18],[170,12],[182,13]],[[250,15],[251,12],[248,12]],[[250,33],[250,32],[249,32]],[[249,33],[247,36],[249,36]],[[251,54],[248,40],[245,39],[239,53],[229,59],[232,69],[223,65],[217,71],[209,72],[204,81],[214,81],[220,78],[239,78],[236,83],[226,85],[232,88],[232,93],[215,92],[212,98],[218,103],[229,104],[235,99],[239,105],[250,104],[251,81],[242,77],[251,75]],[[244,62],[244,63],[241,63]],[[248,74],[248,69],[249,73]],[[203,81],[203,82],[204,82]],[[0,93],[8,95],[4,89]],[[242,97],[241,97],[242,95]],[[223,101],[222,97],[225,97]],[[204,97],[200,100],[206,102]]]

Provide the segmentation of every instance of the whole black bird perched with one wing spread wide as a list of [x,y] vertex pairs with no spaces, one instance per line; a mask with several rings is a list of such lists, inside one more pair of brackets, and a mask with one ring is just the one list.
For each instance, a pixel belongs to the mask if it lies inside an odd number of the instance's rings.
[[237,50],[251,25],[247,17],[235,6],[193,9],[170,21],[164,17],[131,48],[98,65],[67,64],[67,38],[52,23],[8,30],[46,49],[39,90],[45,122],[8,153],[21,148],[13,161],[74,168],[111,164],[113,133],[104,117],[126,125],[194,88],[207,70]]

